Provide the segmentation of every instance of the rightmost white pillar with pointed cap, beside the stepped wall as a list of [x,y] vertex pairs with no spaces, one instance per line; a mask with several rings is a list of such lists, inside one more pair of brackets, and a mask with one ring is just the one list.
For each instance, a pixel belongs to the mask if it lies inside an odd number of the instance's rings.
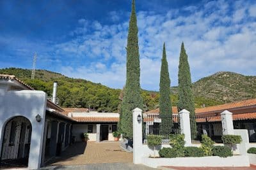
[[220,113],[220,115],[223,134],[234,134],[232,113],[230,111],[225,110],[222,113]]

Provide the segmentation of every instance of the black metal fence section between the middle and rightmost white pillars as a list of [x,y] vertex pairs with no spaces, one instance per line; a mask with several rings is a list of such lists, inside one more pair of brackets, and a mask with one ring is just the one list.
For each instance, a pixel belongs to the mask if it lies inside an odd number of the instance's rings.
[[190,115],[190,124],[192,143],[200,143],[203,134],[209,136],[209,138],[216,143],[222,143],[222,125],[220,116],[205,117]]

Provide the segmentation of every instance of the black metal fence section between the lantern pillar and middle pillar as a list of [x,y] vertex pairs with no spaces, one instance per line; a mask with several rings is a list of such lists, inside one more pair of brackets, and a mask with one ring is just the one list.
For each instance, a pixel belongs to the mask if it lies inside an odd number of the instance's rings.
[[147,136],[156,134],[163,136],[162,143],[169,143],[170,134],[180,134],[179,115],[143,115],[143,143],[147,143]]

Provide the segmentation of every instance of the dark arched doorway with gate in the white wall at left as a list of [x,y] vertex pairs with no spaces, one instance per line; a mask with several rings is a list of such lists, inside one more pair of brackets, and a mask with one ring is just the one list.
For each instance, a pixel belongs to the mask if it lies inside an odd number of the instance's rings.
[[31,122],[14,117],[4,127],[0,167],[28,166],[31,142]]

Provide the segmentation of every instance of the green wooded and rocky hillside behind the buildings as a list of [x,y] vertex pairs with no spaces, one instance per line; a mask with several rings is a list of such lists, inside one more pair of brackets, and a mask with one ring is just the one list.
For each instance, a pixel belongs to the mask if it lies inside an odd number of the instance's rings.
[[[111,89],[100,83],[68,78],[60,73],[47,70],[36,70],[35,79],[31,80],[30,69],[6,68],[0,69],[0,74],[13,74],[25,81],[36,90],[44,90],[52,96],[53,81],[58,81],[59,104],[63,107],[94,108],[98,111],[118,111],[121,89]],[[241,74],[220,72],[202,78],[193,84],[195,105],[197,108],[214,106],[221,103],[241,101],[256,97],[256,76],[243,76]],[[172,87],[172,104],[177,106],[177,87]],[[143,110],[152,110],[159,106],[159,93],[142,90],[144,101]]]

